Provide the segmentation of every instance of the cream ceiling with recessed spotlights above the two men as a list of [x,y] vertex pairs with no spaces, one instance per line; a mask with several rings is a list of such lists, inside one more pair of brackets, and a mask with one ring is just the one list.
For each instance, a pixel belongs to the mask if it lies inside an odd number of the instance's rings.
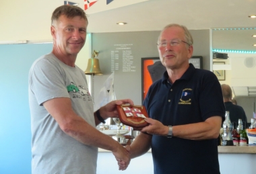
[[[75,0],[74,0],[75,1]],[[161,30],[171,23],[189,30],[255,27],[255,0],[98,0],[86,10],[88,32],[131,32]],[[130,3],[127,3],[130,2]],[[79,5],[80,6],[80,5]],[[117,22],[127,25],[119,26]]]

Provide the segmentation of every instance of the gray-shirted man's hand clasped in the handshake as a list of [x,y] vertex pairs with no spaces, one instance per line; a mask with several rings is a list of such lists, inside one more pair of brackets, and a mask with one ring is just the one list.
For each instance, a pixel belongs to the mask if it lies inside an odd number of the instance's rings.
[[115,155],[115,158],[117,159],[117,163],[119,165],[119,171],[124,171],[125,169],[127,169],[131,161],[129,151],[127,150],[127,148],[124,148],[123,146],[121,146],[121,148],[117,149],[117,152],[113,151],[112,153],[113,155]]

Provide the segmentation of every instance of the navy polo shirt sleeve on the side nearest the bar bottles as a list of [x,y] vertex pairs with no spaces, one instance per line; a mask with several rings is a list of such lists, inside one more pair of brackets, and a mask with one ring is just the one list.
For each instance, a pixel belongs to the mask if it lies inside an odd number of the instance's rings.
[[201,81],[199,105],[203,120],[212,116],[221,116],[222,121],[225,120],[225,106],[220,82],[210,71]]

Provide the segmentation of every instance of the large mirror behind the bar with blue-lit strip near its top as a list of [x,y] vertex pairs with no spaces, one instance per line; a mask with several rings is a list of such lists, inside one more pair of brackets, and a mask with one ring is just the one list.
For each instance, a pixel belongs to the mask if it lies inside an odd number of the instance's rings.
[[[220,84],[230,85],[233,97],[250,122],[256,103],[256,28],[212,29],[213,71]],[[225,59],[225,55],[227,58]]]

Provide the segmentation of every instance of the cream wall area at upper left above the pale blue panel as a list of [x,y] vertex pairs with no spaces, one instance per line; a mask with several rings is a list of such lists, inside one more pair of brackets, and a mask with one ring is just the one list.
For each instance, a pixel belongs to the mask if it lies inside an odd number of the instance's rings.
[[[84,9],[83,0],[73,0]],[[1,1],[0,42],[8,40],[51,40],[51,15],[62,0]]]

